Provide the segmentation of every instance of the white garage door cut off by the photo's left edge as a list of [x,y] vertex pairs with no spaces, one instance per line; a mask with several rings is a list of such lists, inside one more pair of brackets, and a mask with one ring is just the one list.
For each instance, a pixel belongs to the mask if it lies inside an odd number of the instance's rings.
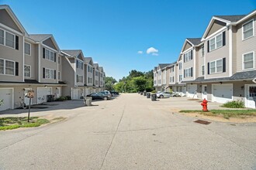
[[0,100],[3,100],[4,102],[4,104],[0,106],[0,110],[13,109],[12,97],[12,89],[0,89]]

